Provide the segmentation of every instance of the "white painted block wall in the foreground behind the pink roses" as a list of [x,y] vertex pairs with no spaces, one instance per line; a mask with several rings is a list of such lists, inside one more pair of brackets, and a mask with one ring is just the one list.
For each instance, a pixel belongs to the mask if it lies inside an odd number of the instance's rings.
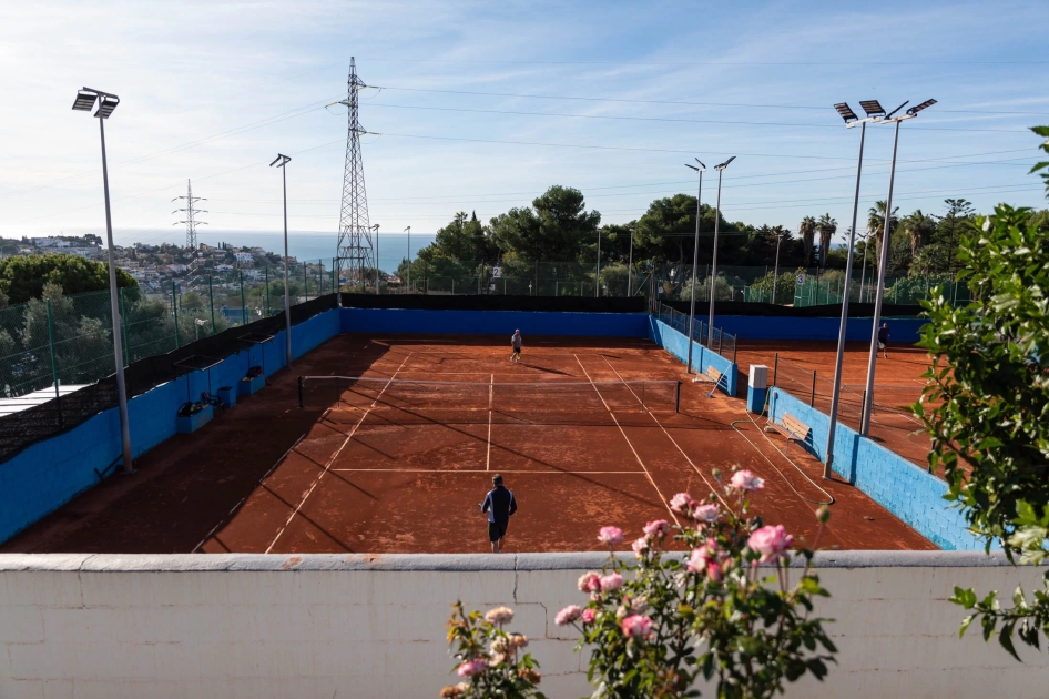
[[[0,698],[436,697],[450,605],[509,604],[551,698],[588,692],[587,654],[553,625],[594,554],[0,556]],[[979,629],[958,640],[954,585],[1011,592],[1040,570],[971,553],[821,554],[817,607],[839,648],[795,697],[1046,697]],[[704,696],[709,696],[704,692]]]

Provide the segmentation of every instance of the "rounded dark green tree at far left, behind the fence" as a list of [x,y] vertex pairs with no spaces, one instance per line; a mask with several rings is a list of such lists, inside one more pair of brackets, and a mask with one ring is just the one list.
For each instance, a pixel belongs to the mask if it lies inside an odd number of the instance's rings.
[[[0,292],[10,303],[40,298],[43,285],[58,284],[67,295],[106,291],[109,265],[79,255],[31,255],[0,260]],[[135,290],[139,283],[123,270],[116,270],[116,286]]]

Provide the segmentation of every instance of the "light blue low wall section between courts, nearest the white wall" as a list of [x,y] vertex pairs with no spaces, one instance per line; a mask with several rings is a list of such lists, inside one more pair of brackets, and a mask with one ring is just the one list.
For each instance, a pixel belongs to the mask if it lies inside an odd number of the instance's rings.
[[[783,415],[790,413],[812,427],[812,440],[806,446],[825,462],[831,417],[782,388],[770,391],[772,419],[782,422]],[[965,517],[944,499],[946,483],[841,423],[834,434],[834,472],[940,548],[982,549],[969,534]]]

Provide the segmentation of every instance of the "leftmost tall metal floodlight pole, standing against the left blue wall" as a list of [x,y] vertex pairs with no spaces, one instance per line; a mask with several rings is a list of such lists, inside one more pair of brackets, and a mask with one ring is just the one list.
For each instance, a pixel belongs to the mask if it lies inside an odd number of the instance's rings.
[[[120,300],[116,290],[116,261],[113,254],[113,217],[110,211],[110,174],[105,161],[105,120],[110,118],[120,98],[109,92],[83,88],[77,92],[73,109],[78,112],[90,112],[95,102],[99,109],[94,115],[99,120],[99,135],[102,139],[102,192],[105,197],[105,239],[109,246],[110,262],[110,315],[113,318],[113,362],[116,367],[116,402],[120,408],[120,445],[124,463],[121,473],[133,474],[134,463],[131,458],[131,425],[128,421],[128,387],[124,384],[124,350],[120,335]],[[55,382],[57,383],[57,382]],[[55,391],[58,386],[55,385]]]

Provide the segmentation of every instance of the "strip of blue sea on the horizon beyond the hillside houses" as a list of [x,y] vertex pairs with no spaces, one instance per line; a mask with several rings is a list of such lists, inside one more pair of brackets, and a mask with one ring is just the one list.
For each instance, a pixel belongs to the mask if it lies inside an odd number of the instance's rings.
[[[118,245],[131,245],[132,243],[150,243],[157,245],[160,243],[185,242],[185,234],[181,236],[177,232],[163,240],[157,240],[156,235],[136,235],[135,231],[114,232],[114,242]],[[378,235],[379,246],[379,269],[384,272],[395,272],[400,261],[408,256],[408,234],[407,233],[383,233]],[[411,256],[414,257],[419,250],[434,242],[434,233],[413,233],[411,234]],[[197,232],[197,241],[208,245],[218,245],[220,243],[230,243],[237,247],[259,246],[263,250],[283,254],[284,234],[283,233],[255,233],[248,231],[204,231]],[[371,235],[373,245],[376,242],[375,234]],[[338,236],[335,233],[289,233],[288,234],[288,254],[298,257],[298,260],[324,260],[329,263],[335,256],[335,246],[338,244]]]

